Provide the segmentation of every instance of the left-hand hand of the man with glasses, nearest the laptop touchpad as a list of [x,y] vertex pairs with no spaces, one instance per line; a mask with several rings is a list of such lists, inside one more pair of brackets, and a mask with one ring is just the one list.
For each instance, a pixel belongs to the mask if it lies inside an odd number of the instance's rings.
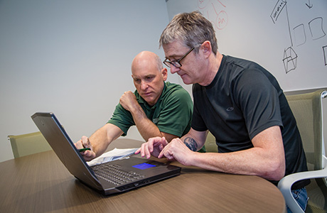
[[168,145],[165,137],[155,137],[150,138],[148,142],[143,143],[141,148],[139,148],[135,154],[141,153],[142,158],[146,156],[146,158],[150,158],[151,155],[154,157],[158,157],[159,153],[163,150],[165,146]]

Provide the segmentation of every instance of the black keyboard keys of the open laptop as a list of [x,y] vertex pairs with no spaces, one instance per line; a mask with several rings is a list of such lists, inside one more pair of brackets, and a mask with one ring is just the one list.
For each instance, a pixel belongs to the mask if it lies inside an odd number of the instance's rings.
[[117,164],[112,165],[108,163],[102,163],[92,166],[92,170],[94,171],[97,178],[107,180],[114,185],[123,185],[145,177],[144,175],[135,173],[133,171],[124,171],[121,169],[121,166]]

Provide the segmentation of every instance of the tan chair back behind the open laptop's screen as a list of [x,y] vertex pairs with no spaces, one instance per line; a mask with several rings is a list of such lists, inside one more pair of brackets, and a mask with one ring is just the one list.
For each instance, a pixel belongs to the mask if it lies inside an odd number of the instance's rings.
[[51,150],[50,145],[39,131],[18,136],[10,135],[8,139],[11,143],[14,158]]

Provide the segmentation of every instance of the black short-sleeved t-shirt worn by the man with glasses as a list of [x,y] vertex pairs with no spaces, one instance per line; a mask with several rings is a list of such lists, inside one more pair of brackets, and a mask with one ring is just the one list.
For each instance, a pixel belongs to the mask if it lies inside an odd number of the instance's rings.
[[[280,126],[285,174],[307,170],[299,130],[286,97],[275,77],[257,63],[224,55],[213,82],[206,87],[193,85],[193,99],[192,128],[213,133],[220,153],[252,148],[251,140],[257,133]],[[294,188],[306,183],[297,183]]]

